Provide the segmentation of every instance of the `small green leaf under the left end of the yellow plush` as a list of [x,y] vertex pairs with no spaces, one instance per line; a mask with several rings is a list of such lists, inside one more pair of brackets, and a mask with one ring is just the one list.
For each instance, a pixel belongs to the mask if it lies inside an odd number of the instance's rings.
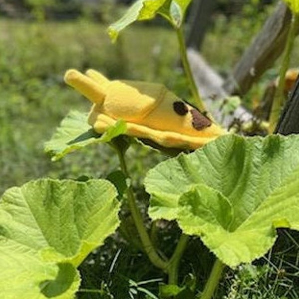
[[109,142],[112,138],[126,133],[126,123],[122,120],[100,135],[87,123],[87,119],[87,113],[71,111],[62,120],[51,140],[45,143],[45,151],[52,155],[53,161],[90,144]]

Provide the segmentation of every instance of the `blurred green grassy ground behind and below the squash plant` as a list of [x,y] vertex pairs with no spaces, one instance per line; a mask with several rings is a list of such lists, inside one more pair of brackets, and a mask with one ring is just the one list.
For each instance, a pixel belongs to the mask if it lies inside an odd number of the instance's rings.
[[[230,21],[218,16],[203,44],[203,55],[221,74],[227,74],[268,13],[257,15],[255,10],[248,8]],[[177,67],[176,37],[169,27],[132,26],[121,34],[116,45],[111,44],[106,28],[106,25],[86,19],[40,23],[0,19],[0,195],[8,187],[21,185],[30,179],[45,176],[77,178],[81,175],[106,177],[118,168],[116,156],[105,145],[83,149],[55,163],[44,154],[44,142],[67,112],[71,109],[88,111],[90,108],[86,99],[64,84],[63,75],[67,69],[83,71],[94,68],[111,79],[161,82],[178,95],[188,96],[185,79]],[[298,66],[298,61],[299,51],[294,51],[292,66]],[[265,82],[276,76],[278,64],[252,89],[247,97],[249,105],[251,97],[259,98]],[[139,146],[128,154],[136,184],[147,169],[164,158]],[[144,198],[142,190],[139,192]],[[164,231],[165,237],[161,238],[164,245],[173,245],[177,228],[170,225]],[[299,292],[294,289],[298,282],[296,273],[299,272],[298,242],[293,242],[293,235],[290,236],[287,237],[289,243],[278,243],[275,252],[269,253],[257,265],[229,271],[219,294],[228,294],[223,297],[227,299],[298,298]],[[198,265],[197,254],[194,255],[199,251],[204,256],[201,265]],[[110,265],[116,256],[117,270],[114,271],[120,275],[113,279]],[[192,240],[183,265],[183,273],[194,271],[191,265],[198,266],[201,272],[196,273],[197,277],[206,279],[211,255],[198,239]],[[289,269],[287,271],[292,275],[280,276],[281,268]],[[163,278],[137,248],[128,248],[125,243],[115,247],[113,239],[107,241],[104,249],[89,257],[82,272],[86,276],[85,287],[101,288],[101,282],[105,281],[110,289],[126,294],[120,296],[119,293],[116,298],[129,298],[132,290],[128,278],[139,282],[149,277]],[[151,289],[150,283],[146,286]],[[278,293],[286,296],[277,296]],[[83,293],[80,297],[98,298]]]

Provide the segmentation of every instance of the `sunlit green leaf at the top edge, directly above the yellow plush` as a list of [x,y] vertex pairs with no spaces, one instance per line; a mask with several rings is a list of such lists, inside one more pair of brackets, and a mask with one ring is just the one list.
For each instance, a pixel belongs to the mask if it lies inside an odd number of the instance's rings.
[[108,28],[112,41],[116,41],[120,31],[135,21],[150,20],[157,14],[166,18],[175,28],[184,20],[185,12],[191,0],[138,0],[115,23]]

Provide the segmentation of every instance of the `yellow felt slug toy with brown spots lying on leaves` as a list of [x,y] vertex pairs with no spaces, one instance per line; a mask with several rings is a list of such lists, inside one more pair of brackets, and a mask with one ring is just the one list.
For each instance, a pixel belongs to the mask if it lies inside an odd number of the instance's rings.
[[98,133],[122,119],[127,135],[168,148],[197,149],[226,134],[161,84],[110,81],[95,70],[68,70],[65,82],[92,103],[88,123]]

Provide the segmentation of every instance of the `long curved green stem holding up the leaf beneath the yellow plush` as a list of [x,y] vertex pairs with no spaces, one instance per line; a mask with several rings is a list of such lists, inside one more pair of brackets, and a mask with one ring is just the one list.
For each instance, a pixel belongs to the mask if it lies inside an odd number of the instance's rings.
[[[120,167],[124,172],[125,176],[130,178],[128,168],[125,162],[124,155],[120,149],[114,147],[119,157]],[[150,238],[148,232],[144,226],[143,219],[141,213],[136,205],[135,196],[132,190],[132,186],[130,186],[127,190],[127,197],[128,197],[128,205],[130,212],[132,214],[132,218],[134,220],[136,229],[138,231],[139,237],[143,244],[144,251],[149,257],[149,260],[152,262],[153,265],[162,269],[164,272],[167,272],[167,265],[168,263],[161,259],[161,257],[157,254]]]

